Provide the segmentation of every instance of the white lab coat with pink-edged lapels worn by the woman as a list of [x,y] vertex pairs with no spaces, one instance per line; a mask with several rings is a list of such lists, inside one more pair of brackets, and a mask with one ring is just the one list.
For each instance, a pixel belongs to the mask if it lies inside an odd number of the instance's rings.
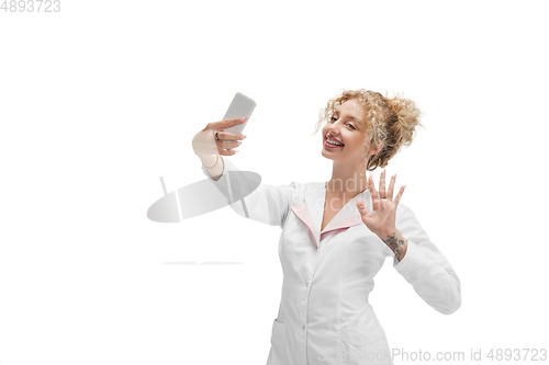
[[[231,198],[231,187],[246,182],[227,179],[226,171],[239,170],[228,159],[224,163],[223,175],[211,181]],[[202,171],[210,176],[204,167]],[[385,333],[368,301],[373,277],[386,256],[393,258],[393,267],[415,292],[442,313],[452,313],[461,305],[458,275],[404,204],[396,209],[396,228],[408,243],[399,262],[360,218],[356,199],[370,213],[369,190],[350,199],[321,232],[325,197],[324,182],[260,184],[245,204],[231,204],[243,217],[282,228],[282,294],[267,364],[392,364]]]

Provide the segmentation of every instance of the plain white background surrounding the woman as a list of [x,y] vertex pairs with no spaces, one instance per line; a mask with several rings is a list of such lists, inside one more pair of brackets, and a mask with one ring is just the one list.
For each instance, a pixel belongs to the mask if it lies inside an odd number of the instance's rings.
[[[416,100],[426,128],[388,173],[457,271],[462,306],[435,311],[388,260],[371,303],[390,345],[467,358],[547,347],[545,8],[61,0],[59,13],[0,12],[0,363],[267,361],[280,228],[228,207],[179,225],[146,217],[159,176],[168,191],[205,179],[192,137],[237,91],[257,107],[232,161],[269,184],[329,180],[311,134],[343,89]],[[188,261],[243,264],[167,264]]]

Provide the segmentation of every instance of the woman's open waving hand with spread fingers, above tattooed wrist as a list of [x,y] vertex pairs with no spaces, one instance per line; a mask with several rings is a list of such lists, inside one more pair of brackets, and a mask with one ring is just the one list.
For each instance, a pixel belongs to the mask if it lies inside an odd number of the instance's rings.
[[381,173],[380,178],[380,192],[376,191],[373,179],[368,178],[368,189],[372,197],[372,212],[368,214],[365,205],[360,199],[357,199],[357,208],[362,216],[362,221],[373,233],[378,235],[381,239],[385,239],[388,235],[393,235],[396,231],[396,206],[401,201],[402,194],[406,185],[402,186],[399,194],[393,199],[394,183],[396,175],[391,178],[389,191],[385,195],[385,171]]

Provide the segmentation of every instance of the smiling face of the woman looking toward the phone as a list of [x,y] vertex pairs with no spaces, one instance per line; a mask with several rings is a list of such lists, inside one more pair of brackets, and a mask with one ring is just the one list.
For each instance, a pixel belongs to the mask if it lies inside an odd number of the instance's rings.
[[[367,137],[365,113],[356,99],[336,107],[328,123],[322,129],[322,155],[334,161],[360,161]],[[335,140],[343,146],[330,145]]]

